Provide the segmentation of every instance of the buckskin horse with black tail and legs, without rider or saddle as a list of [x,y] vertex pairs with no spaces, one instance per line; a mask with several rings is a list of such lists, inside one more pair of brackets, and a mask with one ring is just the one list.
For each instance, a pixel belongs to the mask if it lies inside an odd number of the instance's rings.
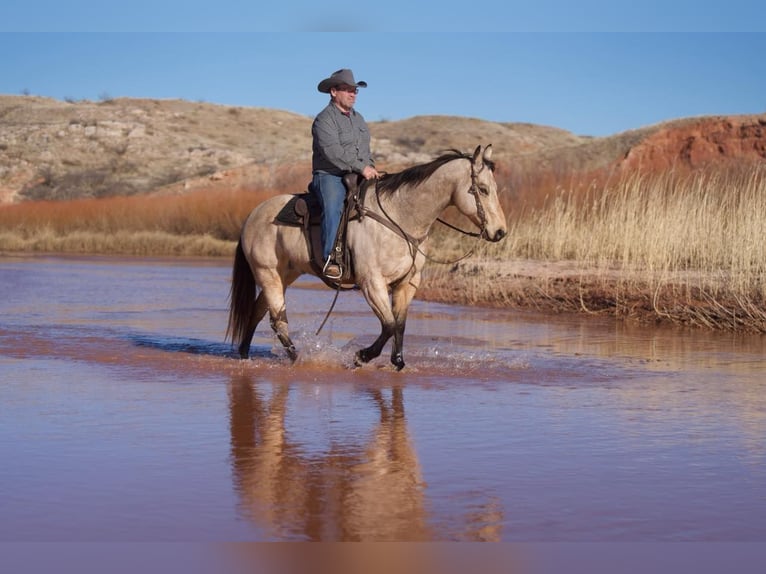
[[[355,355],[361,365],[378,357],[391,337],[391,363],[404,367],[407,309],[421,281],[427,239],[441,213],[454,206],[479,228],[487,241],[507,233],[497,197],[492,146],[473,154],[452,150],[435,160],[383,175],[365,195],[361,215],[349,221],[347,249],[353,283],[380,320],[381,332]],[[285,309],[285,290],[298,277],[316,275],[310,248],[300,227],[282,225],[277,214],[292,199],[277,195],[247,217],[234,256],[226,337],[248,358],[258,323],[269,313],[271,328],[295,361]]]

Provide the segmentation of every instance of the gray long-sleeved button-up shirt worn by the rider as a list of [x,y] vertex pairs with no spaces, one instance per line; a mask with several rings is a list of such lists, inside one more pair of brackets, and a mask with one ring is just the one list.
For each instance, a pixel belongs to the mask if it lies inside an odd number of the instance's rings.
[[370,130],[362,114],[351,110],[345,115],[330,102],[319,112],[311,126],[313,157],[311,169],[333,175],[375,165],[370,151]]

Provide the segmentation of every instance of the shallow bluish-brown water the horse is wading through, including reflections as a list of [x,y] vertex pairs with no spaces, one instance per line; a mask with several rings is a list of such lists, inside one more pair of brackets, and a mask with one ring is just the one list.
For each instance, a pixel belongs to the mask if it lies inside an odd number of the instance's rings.
[[0,258],[1,541],[766,540],[766,339],[288,290],[228,261]]

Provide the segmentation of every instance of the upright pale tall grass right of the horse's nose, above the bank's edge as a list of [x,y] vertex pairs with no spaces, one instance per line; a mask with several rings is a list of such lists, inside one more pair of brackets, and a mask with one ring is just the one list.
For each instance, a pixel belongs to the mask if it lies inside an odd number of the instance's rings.
[[[738,291],[766,271],[766,169],[716,174],[632,175],[584,196],[562,190],[517,221],[504,248],[535,259],[570,259],[588,268],[637,270],[647,277],[689,272]],[[504,254],[505,255],[505,254]]]

